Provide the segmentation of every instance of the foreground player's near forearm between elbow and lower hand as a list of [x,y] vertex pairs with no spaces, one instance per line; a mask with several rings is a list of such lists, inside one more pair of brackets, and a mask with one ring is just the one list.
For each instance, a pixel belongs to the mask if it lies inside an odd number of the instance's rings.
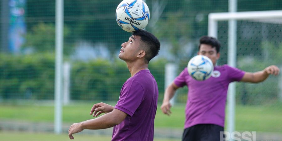
[[105,129],[118,125],[119,122],[115,119],[115,116],[111,113],[105,114],[101,117],[86,120],[81,122],[82,129]]

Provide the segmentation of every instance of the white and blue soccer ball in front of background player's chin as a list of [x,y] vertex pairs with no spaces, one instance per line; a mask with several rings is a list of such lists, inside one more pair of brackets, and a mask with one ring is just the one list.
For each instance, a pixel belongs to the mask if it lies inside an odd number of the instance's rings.
[[194,56],[187,65],[188,73],[195,80],[203,81],[212,76],[212,60],[204,55]]

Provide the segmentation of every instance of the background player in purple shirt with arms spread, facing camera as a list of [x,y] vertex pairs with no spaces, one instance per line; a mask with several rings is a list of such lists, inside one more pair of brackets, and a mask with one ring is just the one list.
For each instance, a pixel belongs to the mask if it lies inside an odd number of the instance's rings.
[[219,141],[220,131],[224,129],[225,104],[228,84],[233,81],[258,83],[269,75],[277,76],[279,68],[275,65],[258,72],[245,72],[237,68],[216,66],[220,57],[220,43],[217,39],[203,36],[200,39],[198,55],[209,57],[214,65],[212,77],[196,81],[185,68],[166,88],[161,110],[170,115],[170,99],[179,87],[188,86],[185,108],[183,141]]

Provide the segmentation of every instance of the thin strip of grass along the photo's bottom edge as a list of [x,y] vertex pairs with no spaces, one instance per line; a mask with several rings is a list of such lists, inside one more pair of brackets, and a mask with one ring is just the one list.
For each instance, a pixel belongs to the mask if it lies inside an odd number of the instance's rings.
[[[28,133],[28,132],[0,132],[3,141],[70,141],[68,134]],[[111,136],[75,134],[74,141],[109,141]],[[179,141],[179,139],[154,138],[154,141]]]

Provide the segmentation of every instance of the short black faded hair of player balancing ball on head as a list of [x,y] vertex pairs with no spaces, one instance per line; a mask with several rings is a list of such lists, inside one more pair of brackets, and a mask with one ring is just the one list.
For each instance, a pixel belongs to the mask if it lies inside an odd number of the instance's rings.
[[157,37],[155,37],[152,33],[146,30],[140,30],[134,32],[132,35],[141,37],[141,41],[144,44],[140,45],[139,48],[142,48],[146,52],[145,55],[146,63],[149,63],[151,59],[153,59],[155,56],[159,54],[160,42],[159,39],[157,39]]

